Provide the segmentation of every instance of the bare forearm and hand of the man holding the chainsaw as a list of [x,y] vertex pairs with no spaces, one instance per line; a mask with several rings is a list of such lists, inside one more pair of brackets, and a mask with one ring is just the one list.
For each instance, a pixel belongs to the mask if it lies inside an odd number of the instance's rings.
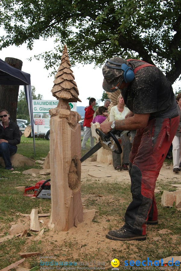
[[[115,129],[116,130],[136,130],[145,128],[148,124],[148,120],[150,117],[150,113],[148,114],[135,114],[132,117],[128,117],[124,120],[116,120],[115,121]],[[112,122],[105,122],[100,124],[100,129],[103,133],[107,134],[111,131]]]

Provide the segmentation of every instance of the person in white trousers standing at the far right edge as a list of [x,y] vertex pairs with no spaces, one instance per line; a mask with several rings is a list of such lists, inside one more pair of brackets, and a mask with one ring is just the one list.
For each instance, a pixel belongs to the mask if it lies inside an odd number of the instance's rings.
[[172,153],[173,153],[173,172],[179,173],[180,171],[179,166],[181,162],[181,93],[177,95],[176,101],[180,116],[180,122],[172,141],[173,145]]

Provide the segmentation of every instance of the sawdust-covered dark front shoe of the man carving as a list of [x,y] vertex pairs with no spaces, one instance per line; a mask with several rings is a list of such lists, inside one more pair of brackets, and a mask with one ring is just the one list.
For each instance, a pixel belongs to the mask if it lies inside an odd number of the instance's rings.
[[120,228],[114,231],[109,231],[106,234],[106,238],[118,241],[129,241],[129,240],[144,241],[146,240],[146,235],[135,234]]

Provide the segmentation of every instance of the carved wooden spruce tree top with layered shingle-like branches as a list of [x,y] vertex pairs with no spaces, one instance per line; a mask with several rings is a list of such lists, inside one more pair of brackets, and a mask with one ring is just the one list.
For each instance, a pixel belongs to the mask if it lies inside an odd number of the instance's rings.
[[70,67],[67,47],[64,45],[61,64],[55,75],[54,86],[51,92],[58,100],[65,99],[67,102],[81,102],[78,98],[79,92],[77,84],[74,81],[75,77]]

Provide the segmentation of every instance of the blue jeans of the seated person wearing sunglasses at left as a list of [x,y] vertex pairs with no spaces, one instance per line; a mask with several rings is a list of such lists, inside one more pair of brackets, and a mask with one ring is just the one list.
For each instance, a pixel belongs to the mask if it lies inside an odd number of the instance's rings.
[[11,169],[11,160],[10,155],[13,155],[17,152],[17,146],[10,145],[9,143],[2,142],[0,144],[0,156],[5,162],[5,169]]

